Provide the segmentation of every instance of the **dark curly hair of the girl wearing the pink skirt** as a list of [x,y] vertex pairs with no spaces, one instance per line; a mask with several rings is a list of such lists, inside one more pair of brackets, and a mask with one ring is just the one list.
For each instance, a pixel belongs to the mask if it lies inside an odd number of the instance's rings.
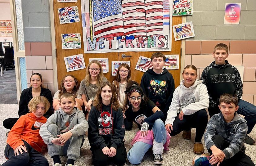
[[140,84],[138,84],[136,81],[130,81],[127,83],[125,89],[125,94],[127,95],[126,101],[124,103],[125,107],[128,108],[131,106],[131,104],[129,104],[130,102],[128,97],[130,97],[132,92],[138,92],[142,97],[141,104],[139,107],[146,106],[146,103],[148,102],[149,99],[146,97],[146,95],[144,95],[142,88],[140,87]]

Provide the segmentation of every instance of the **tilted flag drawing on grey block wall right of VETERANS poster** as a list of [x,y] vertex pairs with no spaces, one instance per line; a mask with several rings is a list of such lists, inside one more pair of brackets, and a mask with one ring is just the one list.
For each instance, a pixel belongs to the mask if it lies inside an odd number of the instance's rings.
[[186,22],[178,25],[173,25],[173,35],[174,39],[181,40],[184,38],[191,38],[195,36],[193,24],[191,22]]

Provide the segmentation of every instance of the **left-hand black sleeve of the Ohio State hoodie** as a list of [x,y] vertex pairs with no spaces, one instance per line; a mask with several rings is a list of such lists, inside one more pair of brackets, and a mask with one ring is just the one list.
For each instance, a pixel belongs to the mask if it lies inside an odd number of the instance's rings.
[[88,140],[90,143],[90,146],[92,148],[100,148],[103,149],[107,145],[105,144],[105,140],[103,137],[100,136],[98,127],[97,127],[97,110],[93,106],[90,110],[89,116],[88,116]]

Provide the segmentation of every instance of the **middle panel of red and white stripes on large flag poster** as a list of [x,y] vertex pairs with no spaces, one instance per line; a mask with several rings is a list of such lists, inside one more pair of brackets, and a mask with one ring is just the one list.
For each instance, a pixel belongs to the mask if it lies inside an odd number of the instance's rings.
[[124,36],[146,36],[146,15],[144,0],[122,0]]

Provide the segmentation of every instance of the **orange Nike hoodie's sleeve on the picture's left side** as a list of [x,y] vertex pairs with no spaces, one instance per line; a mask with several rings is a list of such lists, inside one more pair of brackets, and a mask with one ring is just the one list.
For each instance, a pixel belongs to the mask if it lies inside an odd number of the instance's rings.
[[21,116],[18,121],[14,124],[11,128],[11,131],[7,137],[7,143],[15,150],[18,146],[24,145],[23,141],[21,140],[21,132],[25,128],[26,118],[25,116]]

